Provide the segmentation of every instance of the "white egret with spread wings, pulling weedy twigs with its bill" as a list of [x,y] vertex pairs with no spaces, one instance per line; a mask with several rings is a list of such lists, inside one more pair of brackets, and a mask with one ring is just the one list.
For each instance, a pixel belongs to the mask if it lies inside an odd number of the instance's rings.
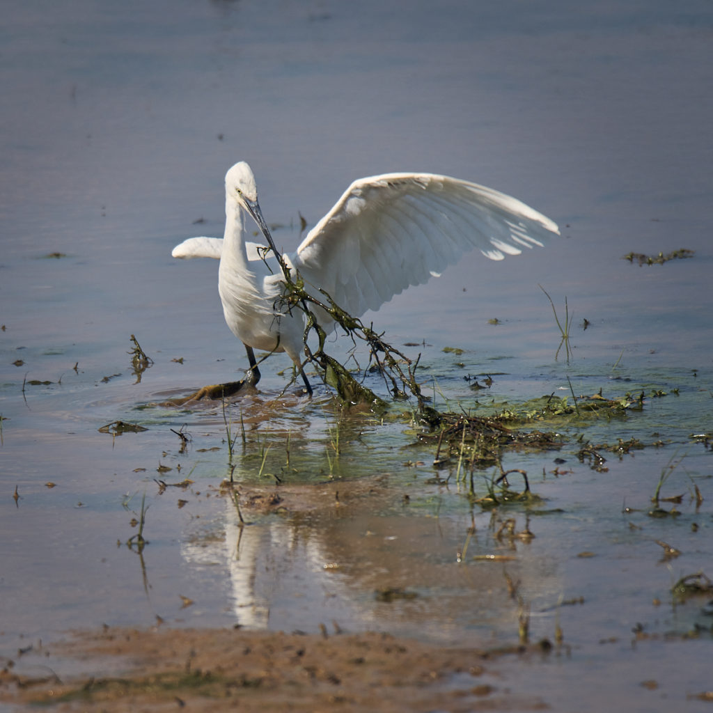
[[[243,211],[270,249],[245,241]],[[287,352],[302,371],[304,314],[280,305],[284,275],[245,162],[225,175],[225,237],[192,237],[173,257],[220,259],[218,291],[225,321],[250,361],[246,380],[257,384],[253,349]],[[379,309],[406,287],[426,282],[463,253],[478,248],[491,260],[519,255],[559,235],[558,226],[516,198],[476,183],[430,173],[386,173],[354,181],[284,262],[315,296],[324,289],[352,317]],[[318,310],[326,331],[334,327]]]

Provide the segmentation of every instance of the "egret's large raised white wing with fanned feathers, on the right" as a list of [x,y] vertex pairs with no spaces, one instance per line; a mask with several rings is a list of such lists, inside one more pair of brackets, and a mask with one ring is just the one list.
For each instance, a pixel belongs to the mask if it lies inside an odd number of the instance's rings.
[[429,173],[387,173],[354,181],[292,261],[309,284],[359,317],[470,250],[502,260],[554,235],[555,222],[491,188]]

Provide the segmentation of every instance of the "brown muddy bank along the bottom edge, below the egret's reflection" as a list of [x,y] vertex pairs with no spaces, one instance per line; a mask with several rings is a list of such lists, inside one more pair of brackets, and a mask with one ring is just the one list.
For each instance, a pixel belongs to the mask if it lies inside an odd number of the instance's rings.
[[[506,655],[435,647],[381,633],[322,635],[241,630],[111,629],[83,632],[6,662],[0,701],[57,712],[474,711],[547,708],[498,678]],[[78,673],[56,675],[69,660]],[[34,664],[34,666],[33,666]],[[15,669],[34,672],[19,673]]]

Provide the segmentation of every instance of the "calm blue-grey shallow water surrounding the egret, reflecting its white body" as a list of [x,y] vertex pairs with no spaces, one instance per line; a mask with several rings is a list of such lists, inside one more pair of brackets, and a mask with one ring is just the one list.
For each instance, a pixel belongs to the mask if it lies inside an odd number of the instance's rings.
[[[702,705],[687,696],[709,688],[709,636],[682,635],[710,617],[699,600],[674,607],[670,588],[707,571],[712,555],[711,456],[690,438],[711,429],[709,6],[71,7],[16,4],[1,30],[7,647],[103,622],[150,626],[157,615],[172,625],[315,631],[334,620],[439,642],[513,642],[507,573],[530,607],[531,638],[553,640],[559,624],[568,647],[513,667],[513,689],[561,710],[573,696],[580,710]],[[220,406],[156,405],[240,378],[244,354],[222,322],[217,264],[174,261],[170,249],[220,235],[222,176],[241,158],[285,247],[299,241],[298,211],[313,224],[351,180],[391,170],[492,185],[560,223],[563,239],[546,250],[490,264],[470,255],[371,315],[394,344],[424,342],[411,352],[422,353],[437,405],[476,407],[467,374],[493,374],[481,407],[569,396],[568,377],[575,394],[667,396],[625,421],[570,427],[562,451],[507,454],[503,465],[528,471],[545,498],[525,544],[498,540],[453,473],[447,486],[434,483],[434,449],[407,447],[406,422],[338,424],[325,391],[312,402],[280,396],[287,380],[277,372],[288,364],[272,357],[260,392],[228,409],[233,435],[241,417],[246,429],[233,474],[246,493],[277,475],[329,505],[246,511],[241,530],[218,491],[231,463]],[[694,257],[642,267],[620,259],[681,247]],[[46,257],[53,252],[65,257]],[[558,329],[538,284],[560,319],[565,297],[574,315],[570,364],[555,360]],[[155,362],[139,383],[130,334]],[[448,346],[465,351],[444,354]],[[148,430],[98,431],[116,420]],[[182,451],[170,429],[184,424],[192,441]],[[597,473],[576,458],[578,431],[593,443],[664,445],[607,456]],[[555,475],[558,456],[565,472]],[[668,487],[684,493],[681,515],[648,517],[662,470],[679,458]],[[481,489],[489,476],[478,474]],[[154,481],[186,477],[188,490],[163,494]],[[150,544],[139,556],[125,542],[143,493]],[[526,511],[506,516],[525,526]],[[682,554],[662,562],[656,540]],[[472,559],[493,553],[515,559]],[[394,587],[417,596],[374,596]],[[558,607],[578,597],[583,604]],[[632,645],[639,624],[651,638]],[[642,688],[647,679],[660,687]]]

